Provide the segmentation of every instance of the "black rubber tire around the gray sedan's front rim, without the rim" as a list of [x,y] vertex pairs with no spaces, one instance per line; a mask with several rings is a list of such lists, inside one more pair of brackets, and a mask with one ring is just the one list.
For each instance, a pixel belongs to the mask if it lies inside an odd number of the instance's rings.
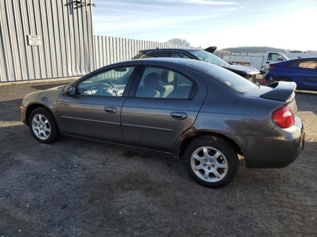
[[[47,138],[41,139],[33,131],[32,119],[36,115],[42,115],[49,121],[49,125],[48,126],[51,129],[51,131],[50,131],[50,133],[49,133]],[[33,137],[36,140],[38,140],[39,142],[42,142],[42,143],[53,143],[58,137],[58,131],[57,131],[57,125],[56,125],[55,119],[54,119],[53,115],[51,114],[51,112],[48,109],[44,108],[44,107],[35,109],[35,110],[33,110],[31,112],[31,114],[29,116],[29,127],[30,127],[30,130],[31,130],[31,133],[32,133]]]

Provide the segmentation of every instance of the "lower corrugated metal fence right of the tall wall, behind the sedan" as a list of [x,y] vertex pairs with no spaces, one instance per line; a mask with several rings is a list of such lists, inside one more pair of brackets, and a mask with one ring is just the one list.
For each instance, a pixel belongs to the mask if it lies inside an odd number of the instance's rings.
[[103,66],[130,60],[141,49],[151,48],[195,48],[182,45],[147,41],[132,40],[108,36],[94,36],[95,40],[95,69]]

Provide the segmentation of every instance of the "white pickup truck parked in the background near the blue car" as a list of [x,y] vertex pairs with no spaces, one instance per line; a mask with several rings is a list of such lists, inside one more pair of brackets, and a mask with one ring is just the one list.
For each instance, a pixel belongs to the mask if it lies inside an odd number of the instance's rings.
[[267,51],[265,53],[240,53],[242,55],[223,55],[223,60],[238,63],[258,69],[262,74],[266,73],[270,63],[289,60],[281,52]]

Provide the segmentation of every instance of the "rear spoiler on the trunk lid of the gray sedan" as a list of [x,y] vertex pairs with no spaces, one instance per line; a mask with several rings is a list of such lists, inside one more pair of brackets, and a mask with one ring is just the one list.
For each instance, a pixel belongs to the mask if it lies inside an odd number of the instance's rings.
[[271,100],[288,101],[294,97],[296,89],[295,82],[275,81],[266,86],[273,88],[272,90],[260,95],[260,97]]

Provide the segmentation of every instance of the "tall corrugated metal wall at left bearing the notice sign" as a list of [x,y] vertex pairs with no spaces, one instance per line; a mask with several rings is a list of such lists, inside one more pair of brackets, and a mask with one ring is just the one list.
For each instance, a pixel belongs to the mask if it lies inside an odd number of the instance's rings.
[[[74,5],[73,0],[0,0],[0,81],[92,71],[91,8]],[[28,35],[41,36],[42,45],[28,45]]]

